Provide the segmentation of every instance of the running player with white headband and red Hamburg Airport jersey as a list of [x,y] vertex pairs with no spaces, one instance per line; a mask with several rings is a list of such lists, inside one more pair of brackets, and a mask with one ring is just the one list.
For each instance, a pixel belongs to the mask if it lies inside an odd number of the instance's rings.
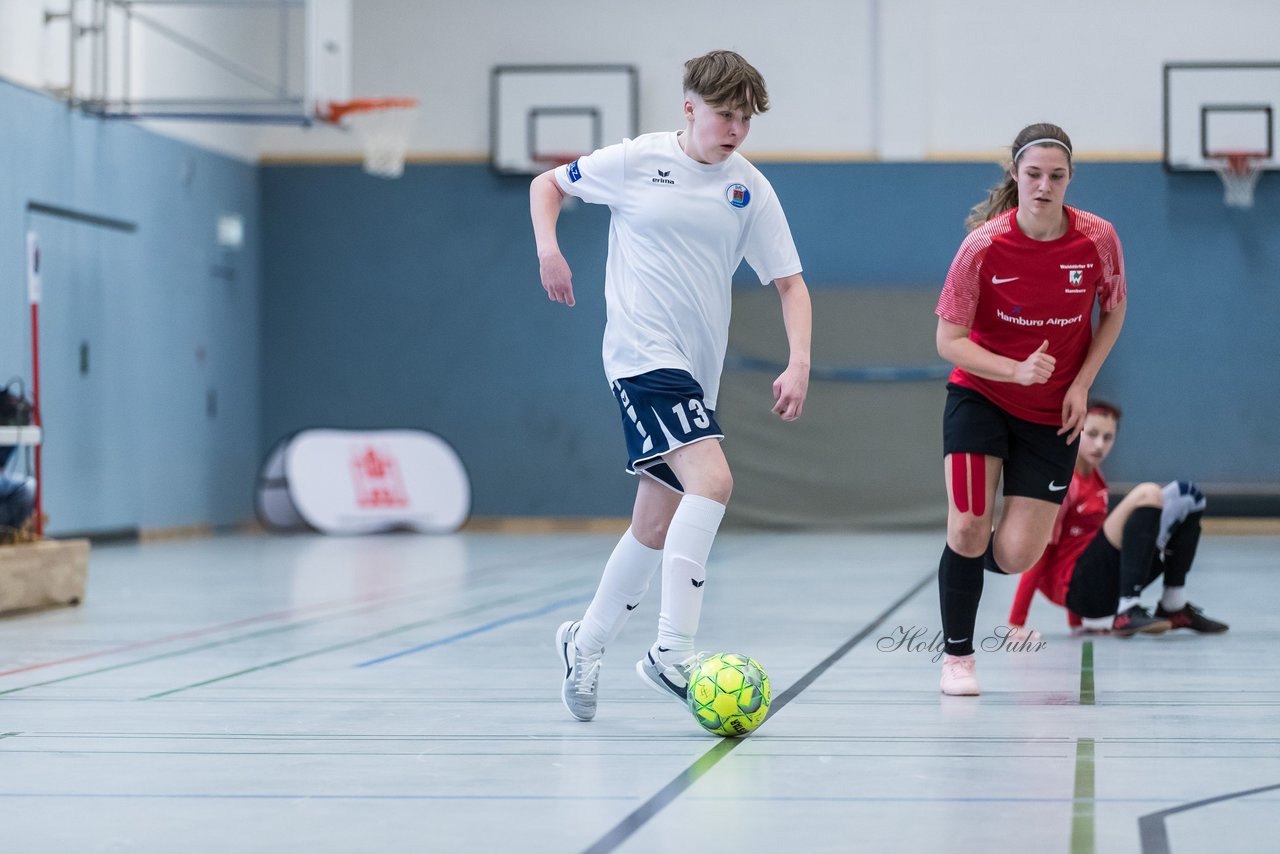
[[[1089,387],[1125,314],[1115,229],[1064,204],[1070,138],[1057,125],[1032,124],[1010,151],[1005,181],[966,223],[972,230],[937,307],[938,355],[956,366],[942,421],[945,694],[978,694],[973,635],[983,567],[1023,572],[1044,551],[1071,480]],[[993,534],[1001,478],[1005,503]]]

